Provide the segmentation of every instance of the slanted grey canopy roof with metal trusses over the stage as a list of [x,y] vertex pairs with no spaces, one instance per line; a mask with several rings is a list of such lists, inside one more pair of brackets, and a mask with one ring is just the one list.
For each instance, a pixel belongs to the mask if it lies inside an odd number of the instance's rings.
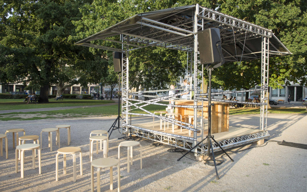
[[[127,51],[118,49],[122,44],[129,45],[128,51],[156,46],[192,52],[197,7],[190,5],[140,13],[82,39],[76,45],[118,52]],[[270,55],[291,54],[269,29],[201,6],[197,18],[198,32],[220,29],[225,62],[260,59],[262,37],[270,37]],[[121,34],[124,42],[120,41]]]

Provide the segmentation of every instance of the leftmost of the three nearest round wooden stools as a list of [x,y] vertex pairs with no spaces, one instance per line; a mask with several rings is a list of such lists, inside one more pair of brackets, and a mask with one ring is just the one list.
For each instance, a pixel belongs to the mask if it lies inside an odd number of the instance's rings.
[[21,151],[20,156],[20,168],[21,168],[21,178],[24,178],[24,165],[25,165],[25,151],[32,151],[32,168],[35,169],[35,157],[34,151],[38,150],[38,170],[39,174],[41,174],[41,159],[40,159],[40,146],[39,144],[28,143],[16,146],[15,150],[15,172],[18,172],[18,152]]

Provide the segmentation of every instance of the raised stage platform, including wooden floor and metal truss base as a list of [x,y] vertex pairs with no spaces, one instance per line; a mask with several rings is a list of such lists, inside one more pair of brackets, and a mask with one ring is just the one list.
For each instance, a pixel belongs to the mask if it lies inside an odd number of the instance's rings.
[[[185,150],[190,150],[194,144],[200,142],[208,134],[207,130],[204,130],[203,137],[201,133],[198,133],[197,138],[193,138],[193,132],[189,136],[189,130],[178,129],[174,127],[174,133],[172,133],[172,124],[169,123],[167,128],[167,123],[165,123],[164,131],[164,121],[162,121],[162,129],[160,129],[160,119],[156,118],[153,122],[152,118],[138,118],[139,120],[133,120],[131,125],[128,125],[133,135],[138,137],[143,137],[160,143],[172,145],[175,147],[183,148]],[[206,122],[205,122],[206,125]],[[205,126],[206,127],[206,126]],[[230,148],[238,145],[243,145],[246,143],[255,142],[261,139],[265,139],[270,136],[267,131],[262,131],[259,129],[249,129],[244,127],[229,126],[228,132],[215,133],[212,134],[214,139],[224,148]],[[207,143],[199,145],[195,153],[204,154],[207,152]],[[213,150],[220,151],[220,147],[213,143]]]

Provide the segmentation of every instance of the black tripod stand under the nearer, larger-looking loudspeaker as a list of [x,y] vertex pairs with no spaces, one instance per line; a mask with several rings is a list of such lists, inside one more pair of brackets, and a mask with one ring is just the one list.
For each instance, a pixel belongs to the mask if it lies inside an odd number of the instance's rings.
[[216,179],[220,179],[220,177],[218,177],[218,173],[217,173],[217,168],[216,168],[216,162],[215,162],[215,157],[214,157],[214,152],[213,152],[213,146],[212,146],[212,141],[211,139],[214,141],[215,144],[217,144],[218,147],[221,148],[221,150],[229,157],[229,159],[233,162],[233,159],[231,159],[231,157],[223,150],[223,148],[221,147],[220,144],[218,144],[218,142],[215,141],[214,136],[211,135],[211,71],[213,71],[213,68],[208,68],[208,75],[209,75],[209,93],[208,93],[208,135],[202,140],[200,141],[198,144],[196,144],[193,148],[191,148],[190,151],[188,151],[186,154],[184,154],[181,158],[179,158],[177,161],[180,161],[180,159],[182,159],[184,156],[186,156],[189,152],[191,152],[195,147],[197,147],[199,144],[203,143],[206,139],[207,139],[207,154],[208,157],[210,156],[210,150],[212,152],[212,158],[213,158],[213,162],[214,162],[214,167],[215,167],[215,174],[216,174]]

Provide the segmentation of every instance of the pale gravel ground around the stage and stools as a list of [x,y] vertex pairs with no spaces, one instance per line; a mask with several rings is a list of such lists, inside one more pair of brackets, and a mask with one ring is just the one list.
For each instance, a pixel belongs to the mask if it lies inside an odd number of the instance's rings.
[[[31,152],[26,152],[25,178],[15,173],[15,150],[12,148],[12,134],[8,134],[9,159],[0,157],[1,191],[90,191],[89,135],[93,130],[108,130],[116,116],[52,119],[33,121],[0,121],[0,133],[7,129],[24,128],[27,135],[40,135],[41,129],[57,124],[70,124],[71,145],[82,150],[83,176],[80,176],[79,155],[77,155],[77,182],[73,181],[72,157],[67,156],[67,175],[63,175],[63,156],[59,156],[59,181],[55,181],[55,156],[58,147],[53,135],[53,152],[47,145],[47,133],[43,133],[42,173],[31,168]],[[151,118],[150,118],[151,119]],[[138,120],[138,118],[136,118]],[[140,119],[139,119],[140,120]],[[144,119],[142,119],[144,120]],[[127,173],[126,149],[121,149],[122,191],[306,191],[307,151],[303,148],[279,145],[277,141],[307,144],[305,136],[306,115],[269,114],[268,130],[271,137],[262,145],[244,145],[228,150],[234,159],[216,153],[224,162],[217,166],[220,180],[215,178],[214,166],[195,161],[193,154],[181,161],[181,153],[167,152],[171,146],[153,146],[152,141],[137,138],[143,146],[143,169],[140,169],[140,153],[134,148],[134,164]],[[230,116],[230,125],[255,128],[259,115]],[[21,133],[19,135],[22,135]],[[116,130],[109,140],[109,157],[117,158],[117,139],[122,135]],[[60,130],[61,147],[67,145],[67,131]],[[249,148],[253,147],[253,148]],[[94,153],[95,158],[101,158]],[[95,169],[96,170],[96,169]],[[114,168],[114,191],[117,190],[117,168]],[[96,174],[95,190],[96,188]],[[109,170],[101,170],[101,190],[109,191]]]

